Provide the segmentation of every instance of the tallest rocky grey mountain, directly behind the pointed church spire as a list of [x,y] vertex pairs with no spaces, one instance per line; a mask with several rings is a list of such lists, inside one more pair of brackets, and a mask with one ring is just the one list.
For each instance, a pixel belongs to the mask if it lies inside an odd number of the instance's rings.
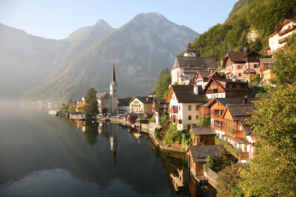
[[[76,40],[81,31],[83,29],[67,39]],[[174,24],[159,13],[141,13],[96,40],[80,55],[59,65],[44,84],[26,91],[22,99],[77,100],[89,87],[109,92],[113,59],[119,97],[148,94],[153,90],[159,72],[165,67],[171,68],[188,39],[198,36],[197,32]]]

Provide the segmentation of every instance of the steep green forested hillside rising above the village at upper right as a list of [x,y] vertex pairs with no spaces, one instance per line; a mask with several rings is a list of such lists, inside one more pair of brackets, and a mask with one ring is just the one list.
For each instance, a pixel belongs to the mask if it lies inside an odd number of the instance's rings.
[[269,46],[266,36],[277,30],[285,18],[296,18],[296,0],[239,0],[223,24],[217,24],[193,42],[197,55],[220,62],[228,51],[263,54]]

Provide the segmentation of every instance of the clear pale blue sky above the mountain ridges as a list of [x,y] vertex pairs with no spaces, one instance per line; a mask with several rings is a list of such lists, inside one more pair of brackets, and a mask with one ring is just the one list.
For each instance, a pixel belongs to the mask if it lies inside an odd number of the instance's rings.
[[98,19],[119,28],[139,13],[158,12],[203,33],[223,23],[238,0],[0,0],[0,23],[44,38],[62,39]]

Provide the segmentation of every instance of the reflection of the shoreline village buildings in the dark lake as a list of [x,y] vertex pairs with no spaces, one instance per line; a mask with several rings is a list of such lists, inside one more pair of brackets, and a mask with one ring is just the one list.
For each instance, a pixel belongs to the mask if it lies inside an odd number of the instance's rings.
[[[135,128],[110,122],[76,121],[77,128],[85,134],[85,140],[89,145],[94,145],[97,138],[110,141],[110,149],[113,155],[114,172],[116,171],[116,153],[118,148],[118,130],[127,129],[138,143],[142,140],[151,140],[147,133]],[[200,185],[188,170],[188,161],[185,153],[174,151],[162,151],[156,148],[151,141],[154,157],[161,159],[166,172],[171,196],[216,196],[216,190],[211,185]]]

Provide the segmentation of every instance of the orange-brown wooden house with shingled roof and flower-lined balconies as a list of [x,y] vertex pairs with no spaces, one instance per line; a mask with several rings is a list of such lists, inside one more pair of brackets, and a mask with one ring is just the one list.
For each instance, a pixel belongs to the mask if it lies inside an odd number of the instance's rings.
[[[229,142],[231,146],[239,150],[237,156],[240,162],[245,163],[253,157],[255,147],[252,138],[252,126],[248,123],[252,111],[256,110],[254,104],[227,104],[221,116],[224,120],[222,127],[223,133],[218,133],[218,137]],[[216,128],[215,128],[216,130]]]

